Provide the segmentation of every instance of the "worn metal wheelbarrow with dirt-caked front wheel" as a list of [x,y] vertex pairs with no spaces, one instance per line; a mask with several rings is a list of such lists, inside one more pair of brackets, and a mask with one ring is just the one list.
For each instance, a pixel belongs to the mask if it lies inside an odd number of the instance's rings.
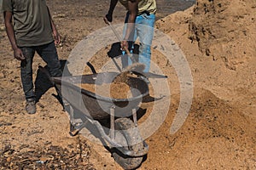
[[[113,149],[113,158],[125,169],[139,167],[143,156],[148,153],[148,144],[143,141],[137,127],[137,109],[143,97],[147,96],[148,83],[139,77],[127,78],[127,85],[131,90],[131,98],[113,99],[105,97],[87,89],[79,87],[79,83],[101,85],[111,83],[118,72],[93,73],[82,76],[50,77],[55,87],[61,91],[62,98],[70,108],[70,133],[75,135],[84,127],[85,122],[96,126],[103,141]],[[74,127],[76,111],[84,114],[86,121],[79,128]],[[109,120],[108,133],[104,130],[101,121]]]

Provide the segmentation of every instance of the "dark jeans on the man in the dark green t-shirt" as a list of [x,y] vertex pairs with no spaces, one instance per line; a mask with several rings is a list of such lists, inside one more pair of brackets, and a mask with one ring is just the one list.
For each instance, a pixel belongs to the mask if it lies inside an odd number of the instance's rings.
[[48,44],[35,47],[20,47],[20,49],[22,50],[22,54],[26,58],[20,63],[20,76],[23,91],[26,100],[36,99],[32,82],[32,60],[34,58],[35,52],[37,52],[38,55],[49,66],[49,74],[52,77],[62,76],[61,63],[58,59],[55,43],[50,42]]

